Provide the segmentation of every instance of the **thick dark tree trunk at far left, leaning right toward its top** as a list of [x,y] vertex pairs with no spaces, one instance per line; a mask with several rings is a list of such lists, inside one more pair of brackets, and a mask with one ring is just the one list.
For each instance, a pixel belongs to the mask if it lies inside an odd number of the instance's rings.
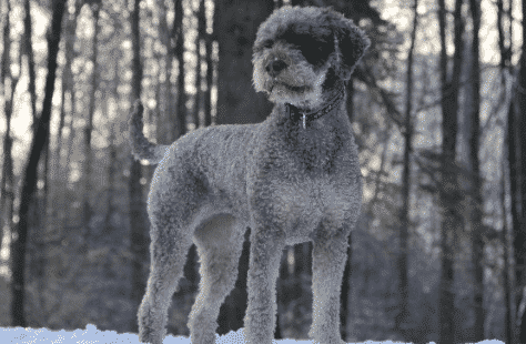
[[57,54],[59,52],[60,36],[62,33],[62,16],[64,13],[65,0],[53,1],[53,13],[51,17],[51,30],[48,36],[48,75],[45,79],[45,92],[42,113],[38,121],[37,131],[31,141],[30,155],[26,165],[22,192],[20,195],[19,223],[14,230],[11,243],[12,253],[12,325],[26,326],[24,307],[24,272],[26,250],[28,241],[28,214],[29,204],[37,184],[37,168],[40,154],[49,136],[49,123],[51,120],[52,98],[54,92],[54,79],[57,72]]

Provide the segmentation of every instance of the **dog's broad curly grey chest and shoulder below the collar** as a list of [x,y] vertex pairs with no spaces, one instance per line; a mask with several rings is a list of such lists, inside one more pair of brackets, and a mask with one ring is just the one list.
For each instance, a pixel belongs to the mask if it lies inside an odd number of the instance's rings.
[[348,128],[314,125],[305,132],[276,131],[267,140],[272,144],[254,155],[249,173],[251,211],[257,213],[259,225],[282,229],[287,244],[313,240],[318,230],[345,227],[362,200]]

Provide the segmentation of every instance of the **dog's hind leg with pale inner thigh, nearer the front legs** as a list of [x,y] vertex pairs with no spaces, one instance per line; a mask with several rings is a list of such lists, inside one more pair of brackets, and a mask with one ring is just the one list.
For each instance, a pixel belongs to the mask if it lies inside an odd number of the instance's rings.
[[215,343],[218,315],[237,277],[244,233],[244,225],[227,214],[214,216],[195,231],[201,282],[188,324],[192,344]]

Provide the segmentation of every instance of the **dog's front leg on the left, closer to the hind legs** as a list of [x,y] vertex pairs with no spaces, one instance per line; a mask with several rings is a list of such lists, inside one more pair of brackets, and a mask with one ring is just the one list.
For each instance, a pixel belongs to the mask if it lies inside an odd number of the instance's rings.
[[279,230],[255,227],[251,233],[249,306],[245,338],[250,344],[271,344],[276,323],[276,279],[285,237]]

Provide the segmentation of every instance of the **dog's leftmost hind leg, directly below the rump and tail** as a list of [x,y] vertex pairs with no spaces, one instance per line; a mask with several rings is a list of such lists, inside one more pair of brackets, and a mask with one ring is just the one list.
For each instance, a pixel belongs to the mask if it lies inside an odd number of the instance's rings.
[[192,242],[189,235],[185,237],[181,232],[168,229],[152,229],[151,233],[150,277],[138,313],[139,341],[161,344],[165,335],[168,308],[183,275]]

